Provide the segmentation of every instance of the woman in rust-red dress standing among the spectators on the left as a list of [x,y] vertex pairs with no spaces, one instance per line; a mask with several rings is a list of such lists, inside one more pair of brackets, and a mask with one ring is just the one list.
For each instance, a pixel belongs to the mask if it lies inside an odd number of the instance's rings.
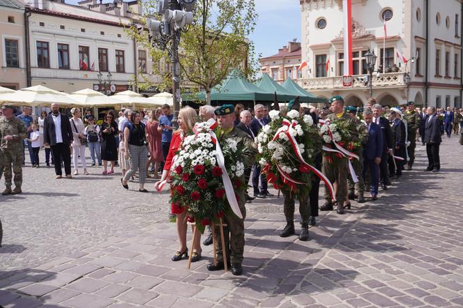
[[149,120],[146,122],[145,132],[146,141],[149,144],[149,160],[146,162],[146,177],[149,178],[149,166],[154,164],[154,178],[159,178],[159,164],[164,160],[162,156],[161,137],[162,127],[159,126],[158,116],[162,109],[153,110],[149,114]]

